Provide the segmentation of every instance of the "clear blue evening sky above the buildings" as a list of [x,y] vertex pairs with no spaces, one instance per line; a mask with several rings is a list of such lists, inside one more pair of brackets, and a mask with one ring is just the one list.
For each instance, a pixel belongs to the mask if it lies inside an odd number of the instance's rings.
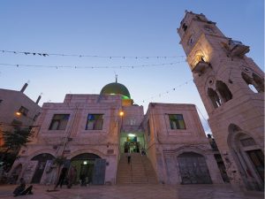
[[[185,56],[177,28],[186,10],[205,14],[223,34],[249,45],[247,56],[264,70],[263,0],[2,0],[0,50],[102,57],[41,57],[0,51],[0,64],[109,68],[0,65],[0,86],[19,90],[29,80],[27,96],[36,100],[42,93],[41,105],[60,103],[66,93],[98,94],[115,80],[116,73],[118,82],[145,110],[149,102],[195,103],[207,119],[186,58],[176,57]],[[152,58],[157,56],[166,58]],[[168,63],[178,64],[163,65]],[[112,68],[128,65],[160,66]],[[202,122],[208,131],[205,120]]]

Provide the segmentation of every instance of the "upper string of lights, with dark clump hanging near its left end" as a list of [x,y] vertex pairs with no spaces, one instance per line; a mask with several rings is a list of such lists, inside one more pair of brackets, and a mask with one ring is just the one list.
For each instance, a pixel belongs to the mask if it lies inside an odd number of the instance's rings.
[[48,57],[48,56],[59,56],[59,57],[96,57],[96,58],[133,58],[133,59],[140,59],[140,58],[178,58],[178,57],[186,57],[182,55],[178,56],[99,56],[99,55],[78,55],[78,54],[63,54],[63,53],[47,53],[47,52],[28,52],[28,51],[15,51],[15,50],[0,50],[2,53],[11,53],[11,54],[22,54],[22,55],[33,55],[33,56],[42,56],[42,57]]

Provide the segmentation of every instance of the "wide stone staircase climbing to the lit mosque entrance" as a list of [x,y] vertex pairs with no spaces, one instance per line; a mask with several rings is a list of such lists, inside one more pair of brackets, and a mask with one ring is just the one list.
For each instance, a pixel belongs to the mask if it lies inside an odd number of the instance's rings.
[[156,184],[156,174],[147,156],[140,153],[131,154],[131,164],[128,164],[125,154],[121,154],[117,166],[117,184]]

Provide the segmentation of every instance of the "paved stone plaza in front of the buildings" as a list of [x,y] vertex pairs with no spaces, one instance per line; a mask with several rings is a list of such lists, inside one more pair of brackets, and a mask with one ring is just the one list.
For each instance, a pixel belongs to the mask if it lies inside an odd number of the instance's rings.
[[[0,198],[14,198],[16,186],[0,186]],[[34,185],[34,195],[23,195],[24,199],[263,199],[261,192],[243,192],[230,185],[115,185],[75,186],[47,192],[50,186]]]

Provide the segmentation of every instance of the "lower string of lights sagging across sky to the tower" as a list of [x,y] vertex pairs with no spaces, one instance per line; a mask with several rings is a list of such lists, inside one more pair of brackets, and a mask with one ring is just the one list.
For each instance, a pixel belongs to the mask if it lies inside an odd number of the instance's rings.
[[73,69],[105,69],[105,68],[140,68],[140,67],[154,67],[154,66],[163,66],[163,65],[176,65],[179,63],[184,63],[186,61],[178,61],[172,63],[163,63],[163,64],[153,64],[153,65],[106,65],[106,66],[76,66],[76,65],[22,65],[22,64],[0,64],[8,66],[23,66],[23,67],[42,67],[42,68],[73,68]]

